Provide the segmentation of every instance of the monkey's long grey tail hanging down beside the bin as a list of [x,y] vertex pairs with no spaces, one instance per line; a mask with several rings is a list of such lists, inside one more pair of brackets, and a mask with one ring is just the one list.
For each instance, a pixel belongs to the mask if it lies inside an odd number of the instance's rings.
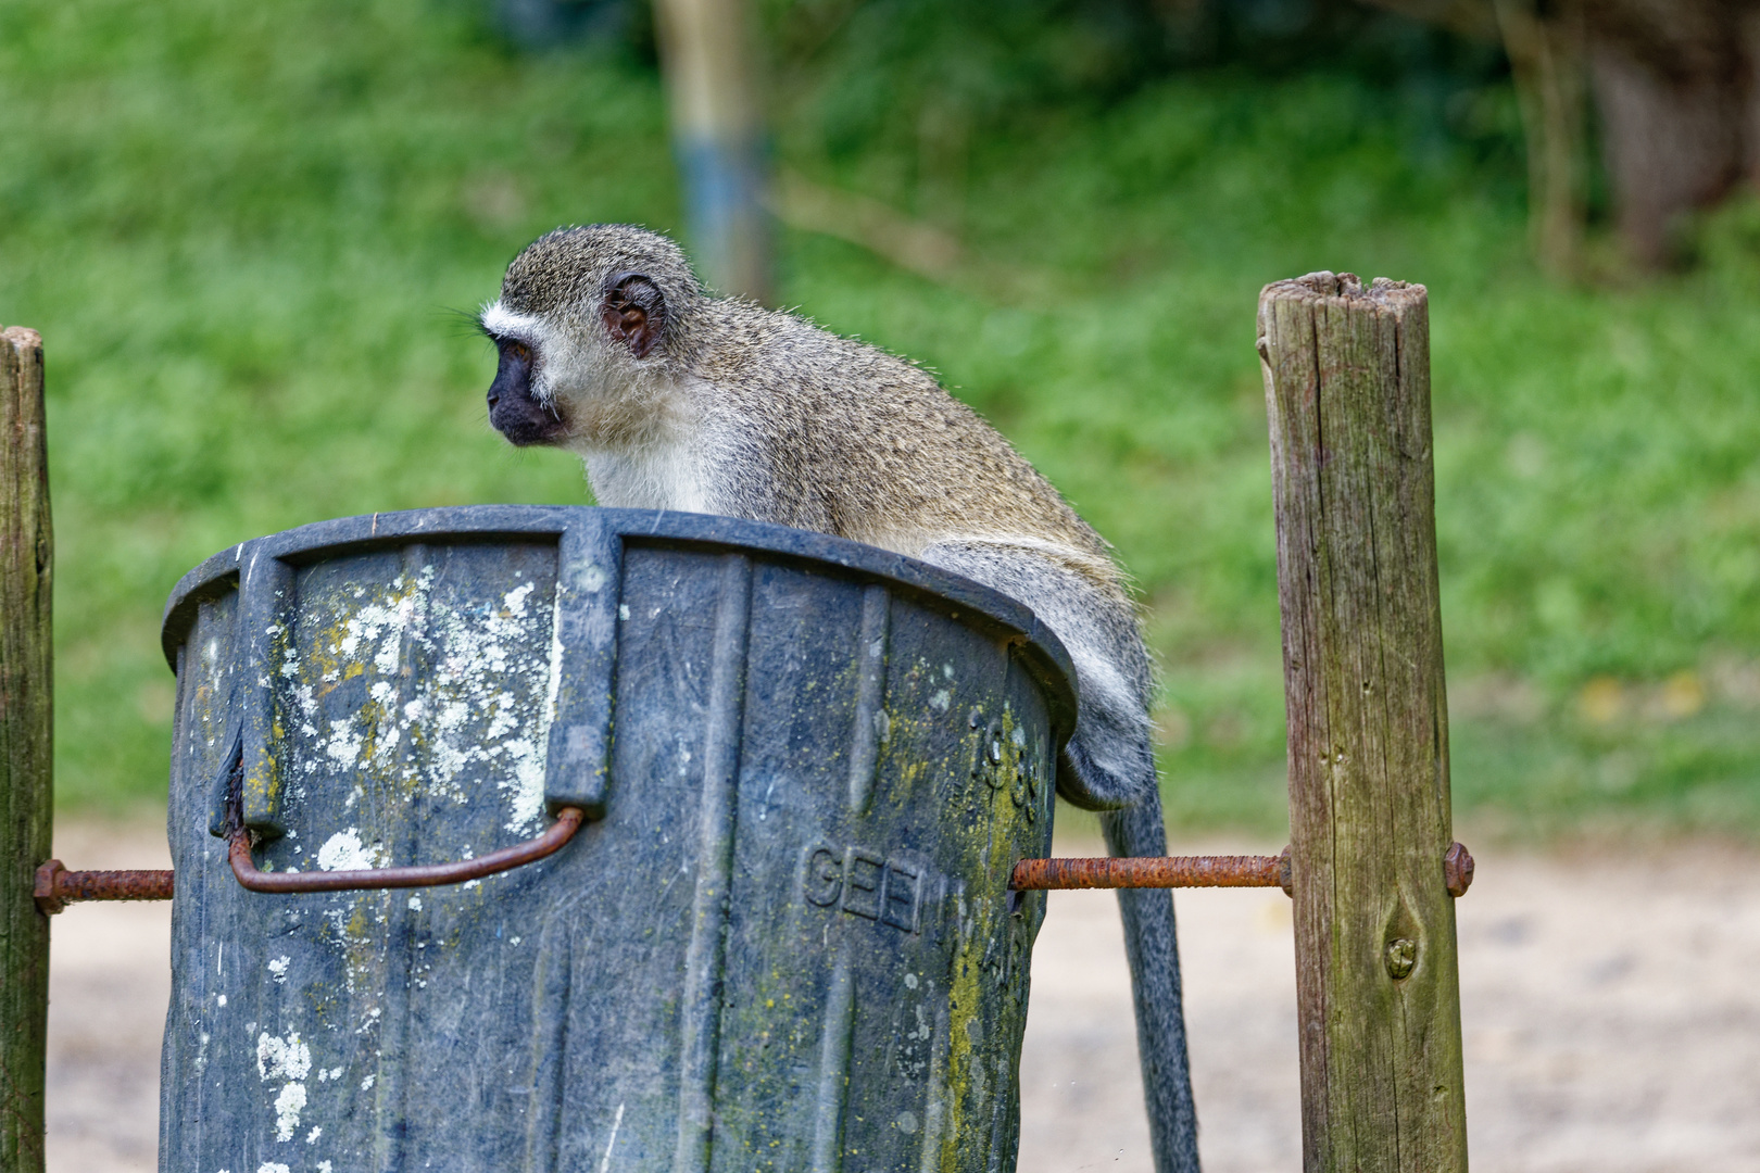
[[[1167,855],[1160,790],[1151,786],[1135,804],[1104,812],[1100,830],[1112,855]],[[1155,1173],[1199,1173],[1199,1120],[1186,1062],[1174,893],[1165,888],[1119,888],[1118,906],[1125,916],[1125,953],[1137,1002],[1137,1055],[1142,1059]]]

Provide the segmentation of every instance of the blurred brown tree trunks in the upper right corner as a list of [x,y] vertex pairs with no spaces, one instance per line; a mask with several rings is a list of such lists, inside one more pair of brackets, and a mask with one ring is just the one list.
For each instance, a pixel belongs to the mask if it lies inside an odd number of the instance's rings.
[[1535,253],[1575,264],[1586,91],[1600,114],[1614,220],[1630,257],[1663,267],[1681,220],[1760,181],[1760,0],[1368,0],[1510,56],[1528,137]]

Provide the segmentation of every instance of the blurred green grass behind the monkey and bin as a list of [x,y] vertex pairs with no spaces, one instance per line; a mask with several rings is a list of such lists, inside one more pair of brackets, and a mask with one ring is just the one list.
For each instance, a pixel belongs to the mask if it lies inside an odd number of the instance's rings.
[[[1760,208],[1698,225],[1686,274],[1559,287],[1526,259],[1514,97],[1434,37],[1132,72],[1107,58],[1130,30],[1047,33],[998,70],[959,37],[982,5],[769,19],[780,162],[973,259],[931,281],[785,232],[788,304],[936,368],[1118,543],[1176,823],[1283,828],[1253,306],[1329,267],[1431,290],[1463,818],[1760,834]],[[558,223],[678,227],[660,83],[639,28],[519,53],[463,0],[0,0],[0,322],[49,355],[60,797],[143,805],[158,608],[201,557],[584,499],[570,457],[489,431],[493,353],[456,311]]]

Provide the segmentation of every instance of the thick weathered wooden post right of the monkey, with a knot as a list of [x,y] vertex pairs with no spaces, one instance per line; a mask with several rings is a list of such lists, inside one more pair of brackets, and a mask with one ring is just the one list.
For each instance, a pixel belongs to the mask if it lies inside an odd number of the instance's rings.
[[1422,285],[1267,285],[1308,1173],[1464,1173]]

